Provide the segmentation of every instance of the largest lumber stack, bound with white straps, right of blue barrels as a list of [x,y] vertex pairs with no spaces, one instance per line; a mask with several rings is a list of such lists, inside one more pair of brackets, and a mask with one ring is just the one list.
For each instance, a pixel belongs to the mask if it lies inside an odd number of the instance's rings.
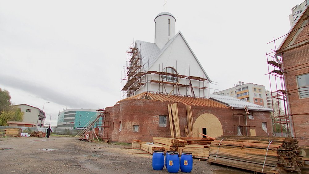
[[211,143],[208,161],[263,173],[300,172],[297,143],[289,137],[221,136]]

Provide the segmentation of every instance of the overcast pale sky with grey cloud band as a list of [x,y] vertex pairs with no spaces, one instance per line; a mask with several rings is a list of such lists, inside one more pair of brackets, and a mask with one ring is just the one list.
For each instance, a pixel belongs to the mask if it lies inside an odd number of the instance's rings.
[[291,9],[303,1],[0,0],[0,88],[14,104],[50,102],[52,125],[66,108],[113,106],[127,49],[153,43],[155,16],[167,11],[216,82],[211,93],[239,80],[270,90],[265,53],[275,47],[267,43],[289,31]]

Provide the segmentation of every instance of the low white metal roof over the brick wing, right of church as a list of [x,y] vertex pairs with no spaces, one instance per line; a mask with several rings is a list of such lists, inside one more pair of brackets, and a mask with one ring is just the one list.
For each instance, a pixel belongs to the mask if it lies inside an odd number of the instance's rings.
[[247,101],[239,100],[239,99],[236,99],[230,96],[210,94],[210,98],[213,100],[222,102],[224,104],[227,104],[231,106],[232,108],[244,109],[244,107],[246,106],[248,110],[253,110],[253,111],[268,111],[268,112],[273,111],[273,109],[265,108],[263,106],[249,103]]

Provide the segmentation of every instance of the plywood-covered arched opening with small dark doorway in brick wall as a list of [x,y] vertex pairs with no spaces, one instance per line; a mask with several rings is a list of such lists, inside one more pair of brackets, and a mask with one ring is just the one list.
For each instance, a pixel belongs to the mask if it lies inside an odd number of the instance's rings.
[[195,137],[203,137],[201,134],[216,138],[223,135],[222,124],[219,119],[210,113],[205,113],[197,117],[194,122]]

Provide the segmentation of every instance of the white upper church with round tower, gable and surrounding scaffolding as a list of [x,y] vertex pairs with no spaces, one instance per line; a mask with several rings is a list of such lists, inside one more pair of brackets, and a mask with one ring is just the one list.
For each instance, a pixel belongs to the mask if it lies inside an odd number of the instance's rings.
[[168,12],[155,17],[154,43],[136,40],[128,53],[122,98],[151,92],[209,98],[211,82]]

